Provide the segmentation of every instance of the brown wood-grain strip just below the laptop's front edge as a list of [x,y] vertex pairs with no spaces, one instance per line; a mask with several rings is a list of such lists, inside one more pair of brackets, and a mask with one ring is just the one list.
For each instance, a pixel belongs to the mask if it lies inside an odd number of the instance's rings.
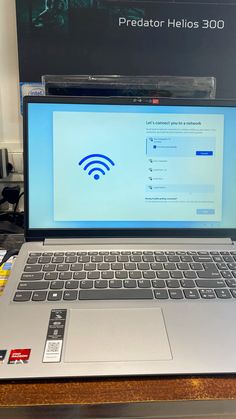
[[236,376],[0,383],[0,407],[236,399]]

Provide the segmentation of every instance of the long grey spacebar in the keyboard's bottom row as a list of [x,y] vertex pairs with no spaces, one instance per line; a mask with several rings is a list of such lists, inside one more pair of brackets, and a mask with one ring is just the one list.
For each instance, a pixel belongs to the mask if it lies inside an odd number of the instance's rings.
[[80,300],[146,300],[152,298],[153,292],[150,289],[83,290],[79,292]]

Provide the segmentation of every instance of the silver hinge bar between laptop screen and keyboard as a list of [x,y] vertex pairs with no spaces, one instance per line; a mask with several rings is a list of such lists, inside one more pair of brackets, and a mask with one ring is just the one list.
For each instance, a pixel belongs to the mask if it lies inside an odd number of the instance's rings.
[[45,239],[44,246],[74,246],[74,245],[211,245],[211,246],[232,246],[234,242],[230,237],[214,238],[191,238],[191,237],[172,237],[172,238],[81,238],[81,239]]

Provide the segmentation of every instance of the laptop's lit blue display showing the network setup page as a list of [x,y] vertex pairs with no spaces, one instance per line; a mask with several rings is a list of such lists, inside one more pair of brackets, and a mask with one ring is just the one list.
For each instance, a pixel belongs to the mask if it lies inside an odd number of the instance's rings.
[[236,104],[28,98],[25,121],[29,229],[236,227]]

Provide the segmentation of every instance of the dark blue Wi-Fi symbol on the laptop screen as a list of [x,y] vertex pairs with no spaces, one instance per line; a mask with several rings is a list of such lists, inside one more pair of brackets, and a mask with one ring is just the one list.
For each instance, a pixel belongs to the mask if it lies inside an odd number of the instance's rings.
[[95,180],[100,179],[101,173],[103,175],[106,174],[104,169],[110,170],[108,163],[111,166],[115,166],[115,163],[104,154],[89,154],[80,160],[79,166],[82,166],[83,163],[85,163],[84,170],[89,170],[88,175],[93,175]]

